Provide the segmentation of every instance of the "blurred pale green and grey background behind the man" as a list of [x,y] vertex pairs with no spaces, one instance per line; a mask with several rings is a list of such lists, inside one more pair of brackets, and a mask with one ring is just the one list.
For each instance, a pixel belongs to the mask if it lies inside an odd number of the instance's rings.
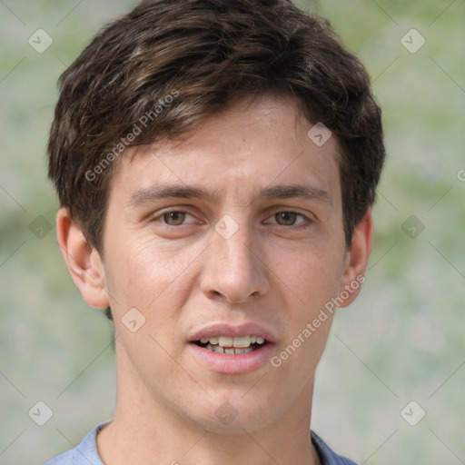
[[[112,330],[55,242],[45,144],[58,76],[134,5],[0,1],[2,464],[42,463],[113,416]],[[360,464],[465,463],[465,2],[299,5],[366,64],[388,148],[367,281],[336,316],[312,428]],[[42,54],[28,43],[38,29],[53,39]],[[42,427],[37,401],[54,412]],[[401,416],[410,401],[426,411],[416,426]]]

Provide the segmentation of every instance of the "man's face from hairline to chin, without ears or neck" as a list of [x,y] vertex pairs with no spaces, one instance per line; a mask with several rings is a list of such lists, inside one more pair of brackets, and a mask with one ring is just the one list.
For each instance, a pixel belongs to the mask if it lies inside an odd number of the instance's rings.
[[122,395],[228,431],[309,404],[332,313],[312,322],[366,264],[344,242],[337,143],[312,125],[262,97],[122,159],[99,265]]

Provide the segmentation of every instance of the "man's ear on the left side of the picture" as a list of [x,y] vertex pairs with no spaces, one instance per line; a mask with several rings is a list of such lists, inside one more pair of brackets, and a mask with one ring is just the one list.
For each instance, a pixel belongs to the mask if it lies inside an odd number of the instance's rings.
[[56,213],[56,235],[64,262],[84,301],[91,307],[108,307],[110,302],[105,291],[104,264],[65,208],[60,208]]

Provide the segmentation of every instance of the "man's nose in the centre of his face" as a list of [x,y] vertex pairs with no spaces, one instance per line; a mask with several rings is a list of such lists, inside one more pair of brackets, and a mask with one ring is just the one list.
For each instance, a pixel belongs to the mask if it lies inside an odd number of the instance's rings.
[[201,275],[201,289],[208,298],[242,303],[269,291],[269,270],[256,239],[246,224],[238,225],[231,236],[221,229],[213,231]]

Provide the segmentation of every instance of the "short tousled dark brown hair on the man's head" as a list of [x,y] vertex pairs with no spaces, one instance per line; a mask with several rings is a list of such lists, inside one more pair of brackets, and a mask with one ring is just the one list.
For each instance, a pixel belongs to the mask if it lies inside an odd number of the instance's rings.
[[337,137],[348,245],[374,201],[385,152],[369,76],[327,21],[290,0],[144,1],[106,25],[59,83],[49,177],[99,252],[118,155],[185,133],[240,93],[292,95]]

